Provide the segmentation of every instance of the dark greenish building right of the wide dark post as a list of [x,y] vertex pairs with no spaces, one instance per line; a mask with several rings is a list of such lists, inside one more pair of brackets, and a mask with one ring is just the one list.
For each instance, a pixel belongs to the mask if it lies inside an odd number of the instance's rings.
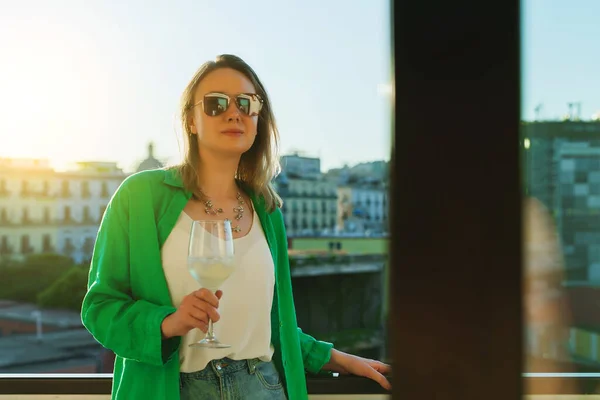
[[569,281],[600,281],[600,122],[523,125],[525,194],[555,219]]

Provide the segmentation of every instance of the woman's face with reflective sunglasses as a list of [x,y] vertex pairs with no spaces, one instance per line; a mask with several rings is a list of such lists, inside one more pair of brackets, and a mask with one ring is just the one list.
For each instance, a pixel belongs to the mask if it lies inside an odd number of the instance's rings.
[[252,82],[234,69],[219,68],[204,77],[194,93],[190,123],[201,152],[241,156],[252,147],[258,124],[258,115],[248,115],[258,104],[252,94]]

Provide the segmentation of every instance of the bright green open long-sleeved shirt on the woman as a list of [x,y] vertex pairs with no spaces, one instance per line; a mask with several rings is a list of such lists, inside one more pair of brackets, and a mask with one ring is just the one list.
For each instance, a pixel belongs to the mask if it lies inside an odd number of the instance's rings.
[[[289,400],[307,399],[305,371],[319,372],[332,344],[297,327],[283,215],[249,195],[275,264],[273,361]],[[112,399],[179,399],[181,337],[163,340],[160,330],[175,311],[160,251],[190,197],[176,170],[136,173],[121,184],[100,224],[81,317],[116,354]]]

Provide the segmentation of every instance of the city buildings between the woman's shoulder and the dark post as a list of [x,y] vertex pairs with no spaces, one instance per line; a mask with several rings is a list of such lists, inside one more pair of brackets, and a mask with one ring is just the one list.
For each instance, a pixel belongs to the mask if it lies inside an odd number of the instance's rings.
[[388,162],[374,161],[321,173],[319,158],[283,156],[275,185],[284,200],[288,235],[385,234],[388,168]]

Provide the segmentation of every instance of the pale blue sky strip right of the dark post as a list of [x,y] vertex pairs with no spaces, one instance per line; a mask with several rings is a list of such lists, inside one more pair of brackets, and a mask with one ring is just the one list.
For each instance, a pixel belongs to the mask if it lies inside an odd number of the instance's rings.
[[568,114],[581,103],[581,119],[600,111],[600,1],[523,0],[522,118]]

